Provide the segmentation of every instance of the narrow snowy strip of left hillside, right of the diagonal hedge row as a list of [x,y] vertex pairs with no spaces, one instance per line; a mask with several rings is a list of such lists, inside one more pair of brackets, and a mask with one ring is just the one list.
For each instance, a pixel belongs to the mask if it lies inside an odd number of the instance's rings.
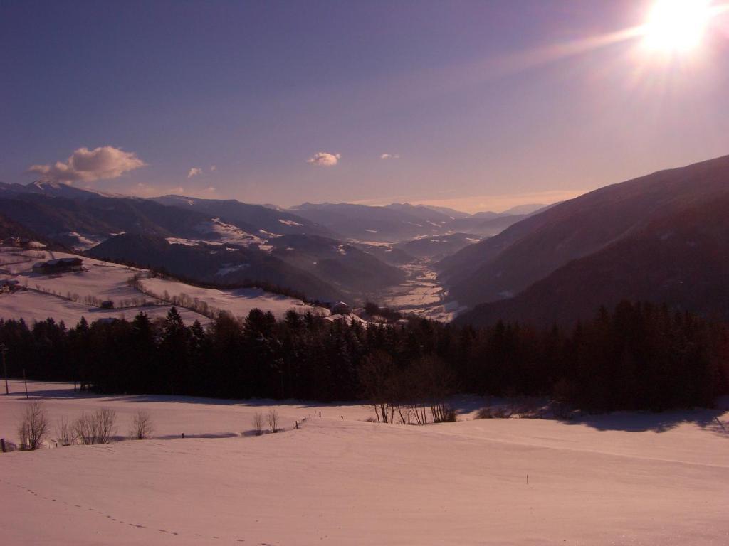
[[198,298],[206,301],[209,306],[227,311],[234,317],[246,317],[252,309],[270,311],[276,317],[282,318],[289,309],[305,314],[329,314],[328,309],[305,304],[303,301],[287,296],[279,296],[265,292],[260,288],[233,288],[230,290],[217,290],[216,288],[197,288],[183,282],[160,278],[142,279],[141,284],[145,291],[163,296],[165,291],[170,296],[186,294],[192,299]]

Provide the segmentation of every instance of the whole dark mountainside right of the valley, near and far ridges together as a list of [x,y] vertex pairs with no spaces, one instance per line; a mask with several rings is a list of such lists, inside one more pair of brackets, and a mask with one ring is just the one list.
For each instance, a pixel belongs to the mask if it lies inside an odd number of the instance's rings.
[[729,319],[726,210],[729,156],[556,205],[445,258],[440,278],[482,304],[460,319],[475,323],[569,323],[620,298]]

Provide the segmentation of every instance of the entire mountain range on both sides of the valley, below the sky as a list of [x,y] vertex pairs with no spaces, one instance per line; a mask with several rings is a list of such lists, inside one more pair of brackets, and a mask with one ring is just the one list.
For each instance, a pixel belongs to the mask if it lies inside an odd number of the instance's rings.
[[402,285],[403,266],[440,260],[446,301],[468,307],[459,322],[477,324],[572,324],[623,298],[729,320],[727,210],[729,157],[506,213],[408,203],[284,209],[0,184],[3,233],[205,282],[364,301]]

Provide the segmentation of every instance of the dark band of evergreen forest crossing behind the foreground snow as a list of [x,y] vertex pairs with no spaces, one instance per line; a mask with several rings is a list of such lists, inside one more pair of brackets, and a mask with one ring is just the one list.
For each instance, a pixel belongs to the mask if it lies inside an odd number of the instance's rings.
[[[400,321],[402,323],[402,321]],[[330,322],[254,309],[207,328],[165,319],[0,320],[10,376],[104,393],[371,400],[378,419],[448,419],[452,393],[546,396],[586,411],[710,407],[729,392],[729,329],[666,306],[623,302],[569,330]],[[428,411],[425,411],[425,410]]]

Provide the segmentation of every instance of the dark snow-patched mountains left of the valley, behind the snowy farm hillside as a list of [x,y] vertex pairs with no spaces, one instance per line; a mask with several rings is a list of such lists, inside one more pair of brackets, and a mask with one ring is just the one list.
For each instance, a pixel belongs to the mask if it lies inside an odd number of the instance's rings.
[[[340,208],[348,206],[332,205],[332,215]],[[382,224],[381,232],[390,230],[392,240],[399,240],[402,225],[451,220],[413,205],[361,210],[366,221]],[[425,240],[413,254],[394,245],[351,242],[330,226],[271,205],[178,195],[141,199],[43,181],[0,183],[0,218],[8,226],[4,231],[32,233],[34,239],[89,256],[221,285],[266,282],[320,300],[375,296],[405,280],[397,266],[429,254]],[[424,237],[422,229],[413,228],[410,236]],[[458,250],[467,244],[464,237],[456,237],[456,245],[433,248],[431,256]]]

